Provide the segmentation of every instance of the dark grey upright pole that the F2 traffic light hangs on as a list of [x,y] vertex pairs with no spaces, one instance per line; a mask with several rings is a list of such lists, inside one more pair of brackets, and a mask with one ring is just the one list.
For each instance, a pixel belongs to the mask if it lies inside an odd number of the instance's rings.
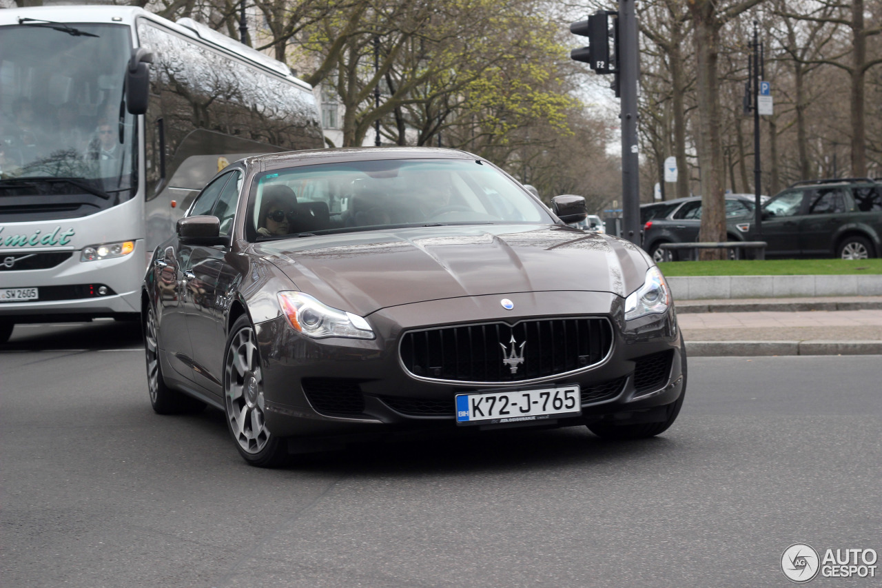
[[622,111],[622,237],[641,245],[639,143],[637,140],[637,77],[639,47],[637,40],[636,0],[618,4],[618,87]]

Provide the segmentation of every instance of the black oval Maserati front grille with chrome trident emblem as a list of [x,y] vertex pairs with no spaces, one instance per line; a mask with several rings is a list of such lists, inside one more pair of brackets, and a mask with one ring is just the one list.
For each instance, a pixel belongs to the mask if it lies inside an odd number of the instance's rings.
[[409,331],[400,355],[407,371],[423,378],[500,382],[593,366],[611,346],[612,328],[605,318],[542,319],[513,327],[493,322]]

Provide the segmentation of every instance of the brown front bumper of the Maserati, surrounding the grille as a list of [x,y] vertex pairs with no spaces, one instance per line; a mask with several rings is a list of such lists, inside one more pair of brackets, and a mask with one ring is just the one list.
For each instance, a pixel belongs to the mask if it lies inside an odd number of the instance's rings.
[[[683,341],[673,306],[624,324],[624,299],[605,292],[534,292],[430,301],[387,308],[368,317],[374,340],[310,339],[284,318],[256,325],[264,365],[266,424],[280,436],[324,436],[384,429],[456,426],[454,396],[501,389],[579,384],[582,414],[535,421],[571,426],[598,419],[652,420],[684,390]],[[535,317],[607,317],[612,346],[582,369],[520,382],[433,381],[407,373],[399,342],[407,330],[476,321],[514,323]]]

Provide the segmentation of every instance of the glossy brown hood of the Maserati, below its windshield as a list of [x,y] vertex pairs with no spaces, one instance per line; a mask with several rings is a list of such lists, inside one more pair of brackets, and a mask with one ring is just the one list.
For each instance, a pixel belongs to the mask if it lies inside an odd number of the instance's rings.
[[645,253],[627,241],[557,225],[420,227],[301,237],[254,246],[300,290],[342,310],[443,298],[581,290],[626,296]]

